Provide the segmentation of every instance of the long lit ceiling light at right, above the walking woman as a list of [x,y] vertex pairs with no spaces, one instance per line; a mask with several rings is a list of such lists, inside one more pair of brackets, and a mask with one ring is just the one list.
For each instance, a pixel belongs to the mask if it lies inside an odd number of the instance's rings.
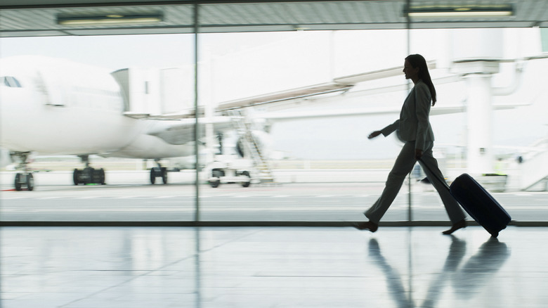
[[490,17],[514,15],[511,5],[500,6],[429,6],[411,7],[410,17]]

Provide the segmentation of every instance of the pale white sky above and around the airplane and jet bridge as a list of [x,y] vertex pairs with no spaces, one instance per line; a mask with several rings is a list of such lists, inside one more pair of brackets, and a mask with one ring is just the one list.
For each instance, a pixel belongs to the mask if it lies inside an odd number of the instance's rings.
[[[438,61],[441,68],[431,72],[433,77],[450,74],[450,62],[456,58],[511,59],[541,53],[540,32],[535,29],[413,30],[410,37],[410,53],[421,53],[427,60]],[[229,101],[329,82],[334,77],[393,68],[403,65],[407,56],[406,38],[405,30],[201,34],[199,60],[209,63],[208,72],[211,72],[204,79],[203,90],[213,101]],[[0,57],[35,54],[67,58],[113,71],[130,67],[169,68],[192,64],[193,44],[193,34],[2,38]],[[519,110],[495,113],[495,144],[528,146],[548,136],[545,116],[548,93],[542,85],[547,68],[547,60],[525,63],[516,93],[493,98],[505,103],[531,104]],[[513,82],[512,71],[511,64],[501,65],[500,74],[492,77],[493,86]],[[440,84],[438,104],[465,101],[466,87],[462,83]],[[405,84],[403,74],[364,84],[362,88],[395,84]],[[338,103],[308,109],[313,112],[317,108],[397,106],[403,103],[405,95],[406,91],[364,96],[363,101],[345,101],[341,96]],[[395,158],[400,149],[396,139],[370,141],[367,135],[397,117],[397,114],[364,115],[275,123],[271,134],[273,150],[301,159]],[[448,152],[457,150],[455,145],[466,139],[466,122],[464,114],[431,117],[439,148]]]

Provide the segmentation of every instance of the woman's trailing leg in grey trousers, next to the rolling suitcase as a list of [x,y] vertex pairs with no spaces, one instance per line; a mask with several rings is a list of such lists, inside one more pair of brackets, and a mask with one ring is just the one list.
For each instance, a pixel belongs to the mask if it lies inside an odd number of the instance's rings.
[[438,161],[436,158],[433,158],[432,146],[433,143],[429,141],[429,147],[422,154],[419,164],[426,164],[428,166],[422,166],[422,169],[426,173],[426,177],[428,177],[430,183],[434,186],[434,188],[436,188],[436,191],[438,191],[441,201],[443,202],[443,205],[445,205],[445,211],[447,212],[451,223],[456,224],[457,222],[461,222],[466,215],[460,208],[459,203],[457,203],[447,187],[445,187],[445,184],[440,182],[440,180],[445,181],[445,179],[438,168]]

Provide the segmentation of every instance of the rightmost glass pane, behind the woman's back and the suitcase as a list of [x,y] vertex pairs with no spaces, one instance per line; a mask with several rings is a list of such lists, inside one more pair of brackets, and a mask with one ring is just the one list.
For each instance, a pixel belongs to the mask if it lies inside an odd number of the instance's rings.
[[[548,218],[548,110],[541,82],[548,59],[535,57],[542,53],[540,34],[533,28],[410,34],[411,53],[436,62],[431,126],[443,174],[449,183],[471,174],[516,221]],[[447,220],[431,184],[414,182],[412,203],[416,220]]]

